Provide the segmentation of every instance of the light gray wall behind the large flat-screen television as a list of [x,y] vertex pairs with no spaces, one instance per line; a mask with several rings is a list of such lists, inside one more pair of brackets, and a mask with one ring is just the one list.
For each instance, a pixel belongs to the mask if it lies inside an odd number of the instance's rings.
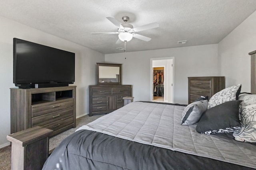
[[0,148],[9,145],[10,134],[10,89],[13,84],[13,38],[76,53],[75,84],[77,86],[76,114],[88,113],[88,85],[96,83],[96,62],[104,62],[104,55],[70,41],[44,33],[26,25],[0,17]]

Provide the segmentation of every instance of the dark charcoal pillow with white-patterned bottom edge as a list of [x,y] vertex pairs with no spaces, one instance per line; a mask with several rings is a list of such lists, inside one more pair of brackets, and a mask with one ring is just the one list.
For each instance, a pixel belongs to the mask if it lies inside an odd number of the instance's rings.
[[240,106],[240,100],[232,100],[206,110],[196,125],[196,131],[198,133],[214,134],[230,133],[241,129]]

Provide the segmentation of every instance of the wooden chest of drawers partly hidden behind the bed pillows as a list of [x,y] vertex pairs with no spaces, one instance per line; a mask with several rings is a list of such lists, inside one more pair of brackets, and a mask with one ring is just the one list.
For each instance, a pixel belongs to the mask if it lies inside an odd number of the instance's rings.
[[188,77],[188,104],[200,96],[208,96],[209,99],[225,88],[224,76]]

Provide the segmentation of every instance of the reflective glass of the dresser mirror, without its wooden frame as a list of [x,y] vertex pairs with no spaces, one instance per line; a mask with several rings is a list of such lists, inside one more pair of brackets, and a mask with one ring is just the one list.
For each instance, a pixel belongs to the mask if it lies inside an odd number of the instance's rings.
[[117,66],[99,66],[99,82],[120,82],[119,69]]

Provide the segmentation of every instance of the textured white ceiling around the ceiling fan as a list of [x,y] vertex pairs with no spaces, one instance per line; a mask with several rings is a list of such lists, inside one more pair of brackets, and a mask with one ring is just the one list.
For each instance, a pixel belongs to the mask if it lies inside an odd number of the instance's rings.
[[129,41],[130,52],[219,43],[254,11],[256,0],[0,0],[0,16],[104,54],[124,47],[117,34],[91,34],[117,31],[108,16],[129,16],[134,27],[159,23],[139,32],[151,41]]

